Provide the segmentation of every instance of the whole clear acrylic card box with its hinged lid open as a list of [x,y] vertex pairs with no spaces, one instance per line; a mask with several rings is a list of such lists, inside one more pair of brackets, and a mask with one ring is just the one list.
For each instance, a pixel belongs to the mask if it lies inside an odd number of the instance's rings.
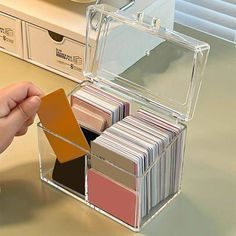
[[[96,30],[91,24],[91,20],[94,24],[94,19]],[[157,18],[143,13],[128,15],[107,5],[90,6],[87,24],[85,80],[69,94],[69,100],[72,101],[76,91],[92,83],[101,90],[127,99],[131,114],[144,108],[182,128],[140,175],[127,171],[129,163],[124,166],[117,164],[112,153],[104,154],[110,158],[104,159],[102,153],[95,155],[93,148],[91,152],[84,150],[39,123],[40,176],[53,187],[137,232],[181,190],[187,130],[185,122],[193,116],[210,47],[204,42],[162,28]],[[135,42],[127,38],[117,45],[127,53],[129,48],[132,47],[132,52],[136,48],[133,56],[137,62],[128,70],[121,72],[122,61],[110,50],[113,43],[109,38],[111,31],[118,39],[124,31],[137,36]],[[89,50],[90,34],[96,35],[97,39],[93,56]],[[93,140],[99,134],[86,127],[82,129],[88,142],[94,145]],[[62,165],[57,161],[46,134],[83,149],[87,154]],[[178,154],[173,154],[177,147]],[[101,168],[104,168],[103,172]],[[163,168],[171,171],[164,172]],[[129,181],[125,182],[124,178]],[[154,184],[162,186],[162,190],[157,192]],[[106,201],[102,201],[103,198],[107,198]]]

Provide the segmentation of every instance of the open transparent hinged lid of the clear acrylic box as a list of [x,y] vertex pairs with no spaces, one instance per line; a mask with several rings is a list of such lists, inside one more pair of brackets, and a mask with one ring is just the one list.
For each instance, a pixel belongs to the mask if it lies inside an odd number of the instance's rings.
[[87,78],[180,120],[192,118],[210,49],[207,43],[162,27],[161,19],[108,5],[90,6],[87,22]]

